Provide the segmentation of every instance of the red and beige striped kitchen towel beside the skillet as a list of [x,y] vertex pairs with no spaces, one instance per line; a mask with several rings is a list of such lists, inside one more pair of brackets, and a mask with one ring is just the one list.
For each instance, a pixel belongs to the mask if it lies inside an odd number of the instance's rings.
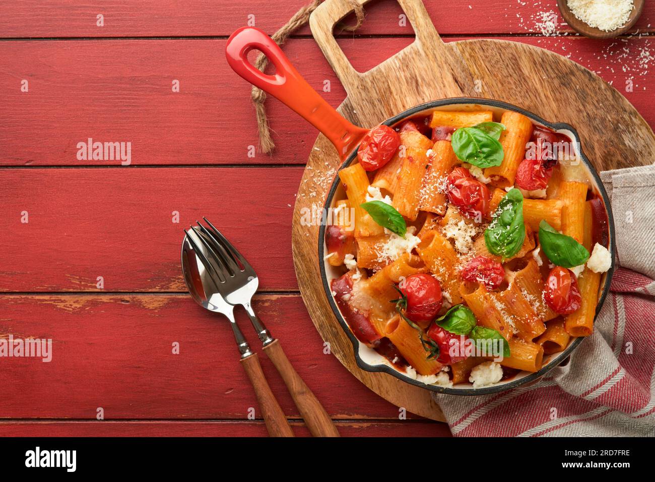
[[479,397],[435,393],[453,435],[655,435],[655,165],[601,178],[618,266],[593,334],[532,386]]

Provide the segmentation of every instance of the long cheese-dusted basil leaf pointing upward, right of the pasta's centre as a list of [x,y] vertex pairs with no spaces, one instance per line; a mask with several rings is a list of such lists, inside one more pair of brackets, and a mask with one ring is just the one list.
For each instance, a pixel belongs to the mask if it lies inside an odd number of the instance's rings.
[[485,245],[491,254],[506,260],[519,252],[525,241],[521,191],[512,188],[500,201],[494,216],[485,230]]

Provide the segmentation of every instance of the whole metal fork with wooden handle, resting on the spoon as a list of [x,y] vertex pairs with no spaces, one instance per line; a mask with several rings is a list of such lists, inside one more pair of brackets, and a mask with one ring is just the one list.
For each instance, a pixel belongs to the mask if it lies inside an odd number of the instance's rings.
[[[225,301],[234,306],[242,305],[259,336],[263,350],[271,359],[274,367],[282,376],[284,384],[301,416],[314,437],[339,437],[339,432],[327,414],[323,405],[309,389],[301,376],[295,371],[288,357],[282,350],[279,340],[272,338],[262,321],[252,308],[252,296],[259,286],[259,278],[250,263],[205,217],[202,218],[208,228],[196,221],[198,227],[191,226],[205,251],[214,264],[207,260],[211,270],[215,270],[215,285]],[[204,261],[203,261],[204,262]]]

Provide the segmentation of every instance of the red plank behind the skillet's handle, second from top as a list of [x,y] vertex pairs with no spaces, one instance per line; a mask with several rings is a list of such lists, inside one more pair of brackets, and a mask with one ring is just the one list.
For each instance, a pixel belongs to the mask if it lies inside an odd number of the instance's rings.
[[[648,75],[655,47],[648,37],[627,43],[579,37],[520,41],[570,54],[599,71],[655,125],[655,98],[649,95],[655,77]],[[367,70],[407,39],[340,44],[354,66]],[[317,132],[275,99],[267,105],[277,151],[248,157],[249,146],[257,145],[250,89],[227,66],[224,45],[222,40],[1,42],[0,165],[120,164],[77,159],[77,143],[89,137],[131,142],[132,165],[305,163]],[[313,40],[295,39],[285,50],[330,104],[343,100],[345,92]],[[29,92],[21,92],[22,79]],[[172,79],[180,81],[181,92],[171,91]],[[636,85],[633,92],[624,91],[627,79]],[[322,91],[326,80],[329,92]]]

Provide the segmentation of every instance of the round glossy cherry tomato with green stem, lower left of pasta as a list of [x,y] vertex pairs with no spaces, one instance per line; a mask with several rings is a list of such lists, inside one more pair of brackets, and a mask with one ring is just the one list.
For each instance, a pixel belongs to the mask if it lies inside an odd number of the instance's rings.
[[432,321],[441,310],[441,285],[432,275],[409,275],[400,283],[400,291],[407,298],[405,316],[415,323]]

